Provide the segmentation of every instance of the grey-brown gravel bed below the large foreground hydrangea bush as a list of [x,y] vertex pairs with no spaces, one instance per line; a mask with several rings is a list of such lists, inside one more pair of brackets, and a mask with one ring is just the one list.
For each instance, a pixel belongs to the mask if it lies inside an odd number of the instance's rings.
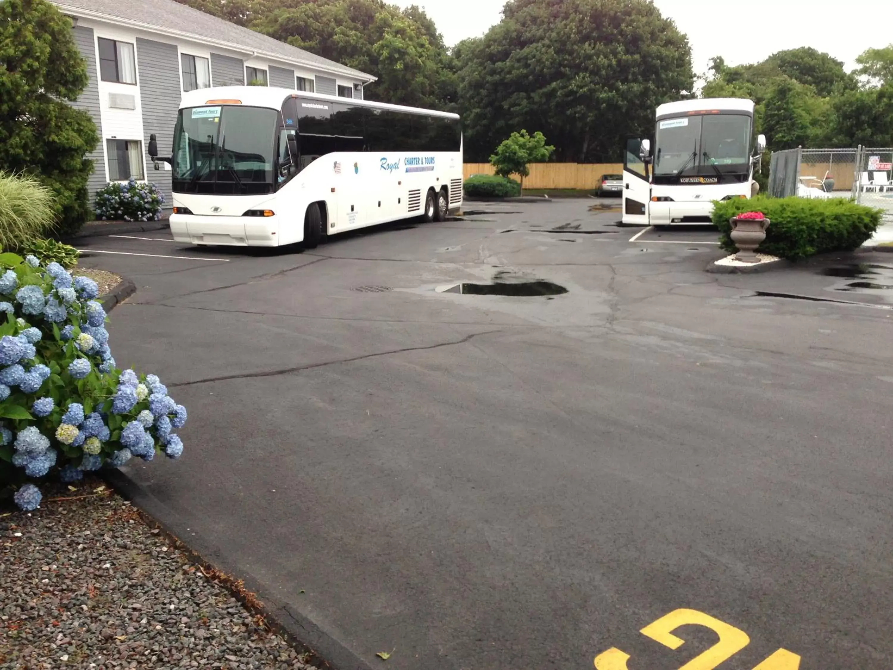
[[315,670],[100,480],[44,489],[0,507],[0,668]]

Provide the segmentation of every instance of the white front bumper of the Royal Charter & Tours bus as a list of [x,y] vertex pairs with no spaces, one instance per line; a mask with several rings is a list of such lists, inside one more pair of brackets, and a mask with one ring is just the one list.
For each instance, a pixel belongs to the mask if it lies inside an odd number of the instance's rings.
[[276,217],[171,214],[171,235],[184,244],[278,247]]

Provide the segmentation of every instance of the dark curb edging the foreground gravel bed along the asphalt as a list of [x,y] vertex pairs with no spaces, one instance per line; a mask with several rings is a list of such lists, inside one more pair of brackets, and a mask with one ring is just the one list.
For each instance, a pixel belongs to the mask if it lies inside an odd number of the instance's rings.
[[224,574],[236,574],[237,579],[244,579],[246,589],[257,594],[263,601],[263,607],[258,607],[256,600],[246,599],[245,591],[234,588],[230,582],[218,583],[249,610],[263,616],[273,632],[287,638],[296,648],[313,654],[313,665],[331,670],[373,670],[372,666],[329,633],[322,631],[311,619],[293,611],[288,604],[261,590],[254,575],[245,574],[243,571],[237,573],[235,566],[226,565],[222,559],[221,549],[212,542],[196,533],[192,533],[188,545],[180,540],[178,532],[186,531],[186,522],[171,507],[166,506],[137,482],[131,480],[126,473],[116,469],[102,470],[100,473],[121,498],[137,507],[146,521],[162,530],[191,561],[206,568],[221,570]]

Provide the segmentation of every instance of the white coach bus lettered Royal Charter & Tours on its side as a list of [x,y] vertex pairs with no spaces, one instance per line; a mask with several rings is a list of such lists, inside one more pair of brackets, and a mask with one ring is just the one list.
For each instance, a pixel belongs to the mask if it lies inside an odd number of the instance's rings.
[[171,233],[194,245],[315,247],[327,235],[462,205],[456,114],[285,88],[183,94]]

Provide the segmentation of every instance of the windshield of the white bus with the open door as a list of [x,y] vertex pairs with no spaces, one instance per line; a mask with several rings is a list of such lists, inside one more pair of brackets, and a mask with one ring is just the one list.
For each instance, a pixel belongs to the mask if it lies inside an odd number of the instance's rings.
[[657,121],[655,176],[717,177],[750,170],[751,117],[703,114]]

